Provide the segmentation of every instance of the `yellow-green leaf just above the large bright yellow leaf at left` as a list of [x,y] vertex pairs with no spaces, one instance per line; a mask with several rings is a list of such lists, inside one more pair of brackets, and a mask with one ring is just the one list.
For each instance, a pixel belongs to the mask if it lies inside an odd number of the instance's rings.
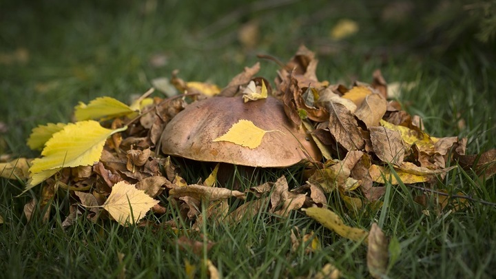
[[74,117],[76,121],[89,119],[108,119],[120,116],[133,118],[137,116],[137,112],[121,101],[117,101],[110,97],[99,97],[90,101],[87,105],[79,103],[74,107]]

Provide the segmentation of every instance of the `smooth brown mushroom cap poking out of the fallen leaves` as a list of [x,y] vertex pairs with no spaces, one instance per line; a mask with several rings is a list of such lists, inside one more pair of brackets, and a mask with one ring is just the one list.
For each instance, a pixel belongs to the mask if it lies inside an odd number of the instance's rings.
[[[215,138],[246,119],[267,132],[254,149]],[[281,133],[283,132],[283,133]],[[311,158],[320,160],[316,144],[302,128],[292,125],[280,101],[273,97],[243,103],[240,96],[213,97],[188,105],[162,134],[162,152],[195,161],[223,162],[251,167],[287,167]]]

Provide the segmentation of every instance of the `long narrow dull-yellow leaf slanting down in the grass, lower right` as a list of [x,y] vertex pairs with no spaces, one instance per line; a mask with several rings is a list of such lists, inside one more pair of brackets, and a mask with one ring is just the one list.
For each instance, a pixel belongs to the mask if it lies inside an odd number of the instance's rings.
[[310,216],[318,223],[324,225],[327,229],[335,231],[336,234],[353,241],[364,240],[366,242],[365,237],[369,234],[368,232],[363,229],[344,225],[340,216],[333,211],[320,207],[309,207],[302,210],[305,211],[307,216]]

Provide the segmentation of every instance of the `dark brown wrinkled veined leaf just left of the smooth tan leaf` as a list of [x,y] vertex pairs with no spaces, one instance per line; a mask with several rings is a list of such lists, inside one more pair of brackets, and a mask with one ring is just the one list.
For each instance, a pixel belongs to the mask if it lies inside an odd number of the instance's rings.
[[344,105],[329,103],[329,132],[347,150],[360,150],[364,146],[362,132],[355,117]]

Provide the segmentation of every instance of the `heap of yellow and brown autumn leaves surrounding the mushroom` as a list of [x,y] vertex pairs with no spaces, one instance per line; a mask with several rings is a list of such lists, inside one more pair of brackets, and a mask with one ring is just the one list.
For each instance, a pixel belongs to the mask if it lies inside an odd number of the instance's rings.
[[[308,216],[339,236],[368,243],[369,270],[371,275],[380,276],[388,264],[386,237],[377,225],[369,232],[344,224],[338,215],[324,209],[329,195],[339,195],[350,210],[359,210],[365,204],[380,204],[384,185],[423,183],[422,187],[435,189],[437,180],[455,167],[446,167],[456,165],[454,160],[487,179],[496,172],[496,154],[490,150],[482,156],[466,155],[465,138],[437,138],[425,132],[418,116],[411,116],[400,103],[388,99],[388,85],[379,70],[373,73],[371,83],[356,81],[347,87],[319,81],[317,65],[313,52],[302,46],[278,71],[275,87],[267,79],[254,78],[260,69],[257,63],[222,90],[209,83],[183,81],[174,72],[171,82],[181,93],[178,96],[149,97],[151,90],[131,105],[110,97],[80,103],[74,110],[76,122],[33,129],[28,145],[42,149],[41,158],[1,163],[0,174],[28,180],[24,192],[41,185],[41,196],[25,205],[28,219],[37,204],[48,207],[43,218],[49,218],[52,200],[69,193],[73,204],[64,226],[70,226],[83,211],[93,221],[112,218],[121,225],[140,223],[149,210],[159,216],[173,216],[167,214],[167,208],[172,208],[167,204],[179,209],[178,218],[191,220],[194,229],[205,218],[237,223],[260,211],[284,217],[305,208]],[[186,106],[216,98],[214,95],[243,98],[245,102],[276,97],[289,121],[307,131],[324,159],[309,164],[307,180],[295,189],[289,189],[284,176],[249,189],[218,187],[217,168],[203,183],[185,183],[171,158],[159,152],[161,133]],[[268,132],[284,131],[265,131],[240,119],[214,141],[256,149]],[[254,198],[231,208],[233,198],[245,200],[248,195]],[[415,200],[425,203],[426,197]],[[441,203],[445,207],[449,199]],[[202,204],[207,209],[203,214]],[[466,206],[466,200],[453,208],[462,205]],[[171,226],[185,224],[161,221]],[[315,243],[312,245],[317,249]],[[327,269],[322,272],[334,270],[331,266]]]

